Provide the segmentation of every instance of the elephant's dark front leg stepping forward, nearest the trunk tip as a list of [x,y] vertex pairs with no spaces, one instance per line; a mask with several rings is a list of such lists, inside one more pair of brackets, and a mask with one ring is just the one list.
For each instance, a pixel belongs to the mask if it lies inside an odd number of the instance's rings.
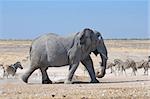
[[90,77],[91,77],[91,83],[99,83],[99,81],[96,79],[94,67],[93,67],[93,61],[90,56],[88,56],[86,59],[81,61],[81,63],[86,67]]

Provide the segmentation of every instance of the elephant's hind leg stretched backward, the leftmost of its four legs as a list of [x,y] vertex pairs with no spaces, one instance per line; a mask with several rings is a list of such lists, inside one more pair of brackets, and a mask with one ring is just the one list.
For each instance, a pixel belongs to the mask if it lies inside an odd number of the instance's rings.
[[22,80],[25,82],[25,83],[28,83],[28,78],[31,76],[31,74],[38,68],[35,68],[35,67],[30,67],[26,72],[25,74],[22,76]]

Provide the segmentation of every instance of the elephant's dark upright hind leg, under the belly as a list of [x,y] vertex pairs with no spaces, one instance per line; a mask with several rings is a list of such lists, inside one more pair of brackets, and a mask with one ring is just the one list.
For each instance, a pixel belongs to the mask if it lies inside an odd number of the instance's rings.
[[52,84],[52,81],[49,79],[48,74],[47,74],[47,69],[46,68],[40,68],[41,73],[42,73],[42,84]]

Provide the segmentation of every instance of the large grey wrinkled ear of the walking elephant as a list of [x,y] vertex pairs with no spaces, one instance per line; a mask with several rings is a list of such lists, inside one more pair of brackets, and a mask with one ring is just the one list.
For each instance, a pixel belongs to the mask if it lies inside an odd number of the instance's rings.
[[83,52],[90,49],[91,33],[93,33],[93,31],[86,28],[75,35],[73,44],[68,51],[68,57],[71,64],[79,62]]

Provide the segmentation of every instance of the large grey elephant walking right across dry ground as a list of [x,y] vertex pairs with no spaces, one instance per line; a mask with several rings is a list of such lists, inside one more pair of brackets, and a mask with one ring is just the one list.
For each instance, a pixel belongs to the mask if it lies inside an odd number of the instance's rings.
[[101,33],[84,28],[74,36],[61,37],[54,33],[44,34],[33,40],[30,47],[30,67],[23,74],[22,80],[28,83],[28,78],[36,70],[42,73],[42,84],[52,84],[47,74],[48,67],[69,66],[65,84],[71,84],[73,75],[81,62],[87,69],[91,78],[90,83],[98,83],[93,61],[90,56],[93,52],[100,54],[102,60],[99,78],[104,77],[107,64],[107,49]]

